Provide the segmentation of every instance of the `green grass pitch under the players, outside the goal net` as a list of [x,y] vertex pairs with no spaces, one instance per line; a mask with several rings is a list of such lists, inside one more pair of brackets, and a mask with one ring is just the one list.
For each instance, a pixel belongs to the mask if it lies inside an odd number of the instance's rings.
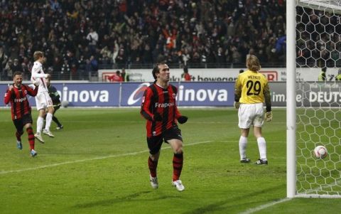
[[[341,199],[286,198],[286,111],[264,125],[268,166],[239,163],[237,111],[184,108],[181,180],[171,186],[173,154],[163,144],[159,188],[148,181],[145,120],[138,108],[60,109],[64,125],[16,149],[9,109],[0,109],[0,213],[340,213]],[[33,109],[36,130],[37,112]],[[51,127],[55,129],[55,124]],[[259,158],[251,134],[248,156]],[[328,210],[328,211],[327,211]]]

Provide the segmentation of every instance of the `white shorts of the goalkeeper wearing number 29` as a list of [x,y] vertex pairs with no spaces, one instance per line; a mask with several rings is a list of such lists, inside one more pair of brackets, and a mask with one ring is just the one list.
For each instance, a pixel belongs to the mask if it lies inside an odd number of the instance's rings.
[[263,103],[242,103],[238,110],[238,118],[238,126],[240,129],[249,129],[251,125],[261,127],[264,124]]

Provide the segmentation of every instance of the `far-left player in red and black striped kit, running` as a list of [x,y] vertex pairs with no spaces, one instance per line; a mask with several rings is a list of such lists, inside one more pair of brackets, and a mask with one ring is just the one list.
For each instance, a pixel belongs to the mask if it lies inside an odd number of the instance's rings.
[[27,85],[23,85],[23,76],[20,72],[13,74],[13,84],[9,85],[6,90],[4,102],[9,104],[11,102],[11,113],[13,124],[16,127],[16,147],[23,149],[21,144],[21,135],[23,135],[23,127],[25,127],[28,134],[28,143],[31,147],[31,156],[36,156],[37,152],[34,150],[34,135],[32,129],[31,106],[28,103],[26,95],[35,97],[38,92],[38,86],[33,90]]

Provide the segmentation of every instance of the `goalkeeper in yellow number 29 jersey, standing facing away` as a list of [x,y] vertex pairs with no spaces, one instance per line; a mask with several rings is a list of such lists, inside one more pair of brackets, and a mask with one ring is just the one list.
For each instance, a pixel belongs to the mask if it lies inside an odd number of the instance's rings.
[[[234,107],[238,109],[238,126],[241,129],[239,154],[241,163],[249,163],[247,158],[247,137],[251,125],[254,126],[254,137],[257,139],[260,158],[255,164],[268,164],[266,159],[266,141],[261,136],[261,126],[272,120],[271,97],[268,80],[259,73],[261,65],[255,55],[247,57],[247,71],[238,75],[234,85]],[[264,101],[266,113],[264,115]]]

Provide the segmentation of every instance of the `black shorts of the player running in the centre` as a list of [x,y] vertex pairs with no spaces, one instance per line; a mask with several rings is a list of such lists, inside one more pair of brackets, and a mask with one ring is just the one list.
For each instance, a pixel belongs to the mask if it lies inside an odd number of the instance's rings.
[[163,141],[168,143],[170,139],[180,139],[183,141],[183,137],[181,136],[181,130],[178,126],[171,127],[171,129],[167,129],[162,134],[153,137],[147,137],[148,149],[150,154],[157,154],[161,149],[161,145]]

